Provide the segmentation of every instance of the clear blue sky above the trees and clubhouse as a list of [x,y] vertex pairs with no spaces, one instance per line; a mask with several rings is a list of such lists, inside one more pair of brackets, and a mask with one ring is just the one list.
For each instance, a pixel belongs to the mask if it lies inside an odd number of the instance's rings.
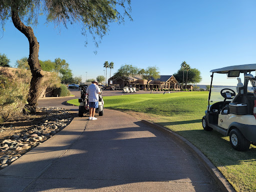
[[[210,83],[211,69],[256,63],[255,0],[131,0],[131,8],[133,21],[127,18],[124,25],[110,24],[98,48],[90,35],[84,46],[78,25],[54,28],[52,23],[44,24],[42,16],[34,28],[39,59],[65,59],[73,75],[82,75],[83,81],[85,72],[87,78],[103,75],[106,60],[114,62],[111,75],[123,64],[156,65],[160,74],[173,74],[185,60],[201,71],[198,84]],[[28,56],[28,41],[11,21],[0,39],[0,53],[7,55],[12,66]],[[215,82],[222,83],[222,79]]]

